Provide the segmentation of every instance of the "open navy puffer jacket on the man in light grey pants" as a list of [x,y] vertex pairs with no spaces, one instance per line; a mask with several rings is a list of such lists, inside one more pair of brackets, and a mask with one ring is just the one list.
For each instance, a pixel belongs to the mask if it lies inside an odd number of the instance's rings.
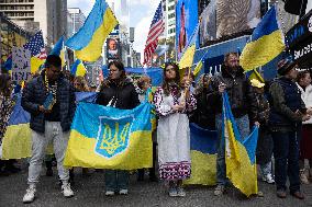
[[[38,106],[43,105],[47,97],[44,73],[45,70],[27,82],[22,94],[22,106],[31,114],[30,127],[38,133],[45,131],[44,113],[38,111]],[[74,88],[63,76],[59,77],[57,85],[56,99],[59,102],[60,126],[63,131],[67,131],[70,129],[76,111]]]

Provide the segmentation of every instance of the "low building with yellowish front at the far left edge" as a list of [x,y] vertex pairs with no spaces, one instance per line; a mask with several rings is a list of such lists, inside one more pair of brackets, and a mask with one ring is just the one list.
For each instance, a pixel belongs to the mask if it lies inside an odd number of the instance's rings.
[[0,12],[0,62],[3,62],[12,53],[13,47],[23,46],[32,36]]

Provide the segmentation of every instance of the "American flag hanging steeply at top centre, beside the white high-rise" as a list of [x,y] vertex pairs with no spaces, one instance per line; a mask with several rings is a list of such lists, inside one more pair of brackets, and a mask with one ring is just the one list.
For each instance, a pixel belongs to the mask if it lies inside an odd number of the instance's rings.
[[144,64],[149,65],[152,61],[152,56],[157,47],[158,44],[158,37],[163,34],[165,30],[165,22],[163,18],[163,4],[161,1],[154,14],[145,49],[144,49]]

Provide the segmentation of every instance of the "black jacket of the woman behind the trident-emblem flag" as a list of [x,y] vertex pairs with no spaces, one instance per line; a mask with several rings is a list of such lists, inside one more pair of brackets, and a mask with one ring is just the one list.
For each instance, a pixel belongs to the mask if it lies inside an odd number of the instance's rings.
[[124,79],[119,82],[104,83],[97,97],[97,104],[104,106],[110,104],[120,110],[132,110],[140,105],[140,100],[132,82]]

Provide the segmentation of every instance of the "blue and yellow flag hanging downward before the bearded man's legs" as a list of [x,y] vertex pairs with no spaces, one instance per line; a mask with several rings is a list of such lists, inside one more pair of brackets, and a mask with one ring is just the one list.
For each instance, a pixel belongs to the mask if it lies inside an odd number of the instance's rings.
[[231,111],[229,96],[223,93],[223,133],[225,141],[226,176],[246,196],[258,193],[256,147],[258,127],[242,138]]

